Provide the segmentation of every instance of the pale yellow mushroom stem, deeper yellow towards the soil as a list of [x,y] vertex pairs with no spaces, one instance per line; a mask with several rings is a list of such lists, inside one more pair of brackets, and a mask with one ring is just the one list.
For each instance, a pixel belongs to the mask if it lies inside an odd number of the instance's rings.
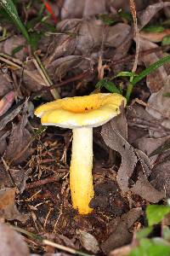
[[73,129],[71,155],[71,200],[81,214],[92,212],[89,202],[94,197],[93,186],[93,128]]

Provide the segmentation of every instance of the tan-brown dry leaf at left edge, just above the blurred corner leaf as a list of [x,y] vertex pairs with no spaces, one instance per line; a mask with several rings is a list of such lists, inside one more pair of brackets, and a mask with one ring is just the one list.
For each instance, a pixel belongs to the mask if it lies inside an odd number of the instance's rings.
[[15,190],[9,188],[0,190],[0,218],[18,219],[20,222],[26,223],[28,217],[21,214],[14,204]]

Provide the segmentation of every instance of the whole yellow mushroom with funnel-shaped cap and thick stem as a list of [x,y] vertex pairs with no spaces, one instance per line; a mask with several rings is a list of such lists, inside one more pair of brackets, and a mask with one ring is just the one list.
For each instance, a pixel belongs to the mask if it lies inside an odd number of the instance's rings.
[[71,128],[73,131],[70,167],[71,201],[80,214],[92,212],[89,202],[94,197],[93,127],[104,125],[120,113],[126,99],[119,94],[98,93],[48,102],[36,109],[42,125]]

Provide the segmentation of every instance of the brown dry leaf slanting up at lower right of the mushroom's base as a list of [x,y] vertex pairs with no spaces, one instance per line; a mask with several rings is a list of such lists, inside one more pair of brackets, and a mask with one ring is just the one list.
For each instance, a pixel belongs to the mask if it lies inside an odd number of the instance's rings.
[[121,218],[115,219],[115,224],[113,223],[112,227],[112,230],[114,230],[113,233],[101,244],[101,249],[106,255],[132,240],[133,234],[129,232],[129,228],[133,226],[142,213],[142,208],[133,208],[123,214]]

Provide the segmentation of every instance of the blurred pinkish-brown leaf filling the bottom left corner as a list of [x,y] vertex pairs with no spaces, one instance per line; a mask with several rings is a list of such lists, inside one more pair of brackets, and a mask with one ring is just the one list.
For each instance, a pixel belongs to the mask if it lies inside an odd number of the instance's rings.
[[0,224],[0,255],[29,256],[29,249],[23,237],[8,226]]

